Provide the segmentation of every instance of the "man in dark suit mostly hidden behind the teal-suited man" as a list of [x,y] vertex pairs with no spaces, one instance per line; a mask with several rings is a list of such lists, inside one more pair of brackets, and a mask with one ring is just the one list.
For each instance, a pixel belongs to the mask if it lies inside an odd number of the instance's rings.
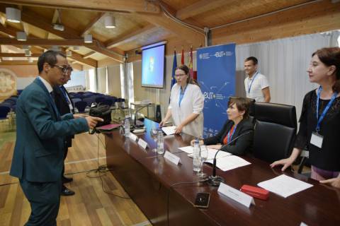
[[[65,75],[65,78],[62,81],[62,85],[55,86],[53,88],[53,92],[55,93],[55,105],[57,106],[57,109],[59,110],[61,115],[73,113],[74,114],[74,103],[72,102],[71,98],[69,97],[69,93],[67,93],[66,88],[64,88],[64,84],[67,83],[67,81],[71,80],[71,73],[73,69],[71,66],[68,66],[67,73]],[[64,160],[67,157],[67,153],[69,150],[69,147],[72,147],[72,138],[74,136],[67,136],[65,138],[65,146],[64,146]],[[64,184],[72,182],[73,179],[69,177],[64,176],[64,169],[65,165],[62,167],[62,196],[72,196],[74,195],[74,191],[71,189],[68,189]]]

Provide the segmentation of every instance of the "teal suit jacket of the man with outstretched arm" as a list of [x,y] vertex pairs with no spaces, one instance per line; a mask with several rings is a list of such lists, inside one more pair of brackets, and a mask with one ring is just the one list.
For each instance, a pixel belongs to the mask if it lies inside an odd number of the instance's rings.
[[64,137],[87,131],[86,119],[60,116],[45,85],[36,78],[16,103],[16,146],[10,174],[30,182],[60,180]]

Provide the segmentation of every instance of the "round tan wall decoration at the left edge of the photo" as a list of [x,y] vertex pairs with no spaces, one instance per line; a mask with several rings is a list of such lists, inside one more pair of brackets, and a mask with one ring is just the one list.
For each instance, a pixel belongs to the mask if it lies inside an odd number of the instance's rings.
[[6,97],[16,93],[16,74],[8,69],[0,69],[0,96]]

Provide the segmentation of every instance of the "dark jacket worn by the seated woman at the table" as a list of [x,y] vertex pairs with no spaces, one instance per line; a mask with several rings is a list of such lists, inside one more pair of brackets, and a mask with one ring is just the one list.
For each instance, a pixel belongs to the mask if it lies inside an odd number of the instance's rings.
[[[227,120],[225,125],[221,129],[220,132],[217,133],[216,136],[212,136],[209,138],[205,138],[204,144],[205,145],[215,145],[217,143],[223,143],[223,139],[227,136],[227,133],[234,125],[234,121]],[[232,138],[236,138],[237,136],[245,133],[246,131],[252,131],[249,134],[246,134],[236,141],[232,143],[228,143],[223,147],[221,150],[227,151],[228,153],[232,153],[234,155],[244,155],[246,151],[251,152],[251,148],[253,145],[253,138],[254,138],[254,125],[252,124],[250,119],[243,119],[242,121],[237,124],[236,131]]]

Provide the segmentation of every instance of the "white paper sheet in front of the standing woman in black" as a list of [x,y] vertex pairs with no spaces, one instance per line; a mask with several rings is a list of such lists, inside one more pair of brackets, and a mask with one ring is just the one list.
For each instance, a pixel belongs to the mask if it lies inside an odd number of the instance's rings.
[[288,177],[285,174],[269,179],[268,181],[260,182],[257,185],[261,186],[263,189],[267,189],[268,191],[278,194],[279,196],[283,196],[284,198],[313,186],[312,184],[302,182],[293,177]]

